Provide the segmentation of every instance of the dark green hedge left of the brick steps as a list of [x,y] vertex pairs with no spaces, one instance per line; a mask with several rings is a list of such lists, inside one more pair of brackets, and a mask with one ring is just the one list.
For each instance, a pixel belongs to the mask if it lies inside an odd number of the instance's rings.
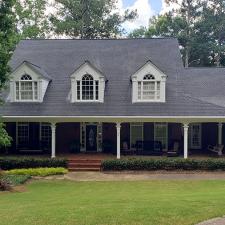
[[0,158],[0,169],[11,170],[38,167],[64,167],[67,168],[66,159],[47,158]]

